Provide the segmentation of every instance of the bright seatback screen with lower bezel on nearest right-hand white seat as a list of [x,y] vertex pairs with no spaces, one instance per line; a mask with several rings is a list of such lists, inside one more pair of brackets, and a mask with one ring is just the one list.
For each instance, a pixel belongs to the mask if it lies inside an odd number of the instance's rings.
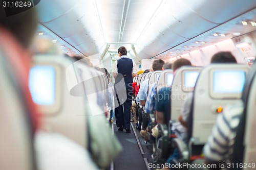
[[215,70],[211,76],[213,98],[241,98],[246,76],[244,70]]

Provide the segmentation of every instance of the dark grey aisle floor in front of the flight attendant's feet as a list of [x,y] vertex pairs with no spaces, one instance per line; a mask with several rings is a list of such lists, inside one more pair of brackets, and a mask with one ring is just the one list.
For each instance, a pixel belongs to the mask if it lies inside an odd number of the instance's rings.
[[114,133],[123,147],[123,151],[114,160],[114,170],[147,170],[133,128],[131,133],[126,133],[125,130],[118,131],[114,125]]

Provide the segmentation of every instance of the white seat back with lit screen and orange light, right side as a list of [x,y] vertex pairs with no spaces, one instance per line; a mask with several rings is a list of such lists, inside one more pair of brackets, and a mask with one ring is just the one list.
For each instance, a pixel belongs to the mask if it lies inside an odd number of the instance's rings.
[[240,104],[249,66],[211,64],[202,69],[194,90],[188,123],[190,155],[201,154],[218,114],[226,105]]

